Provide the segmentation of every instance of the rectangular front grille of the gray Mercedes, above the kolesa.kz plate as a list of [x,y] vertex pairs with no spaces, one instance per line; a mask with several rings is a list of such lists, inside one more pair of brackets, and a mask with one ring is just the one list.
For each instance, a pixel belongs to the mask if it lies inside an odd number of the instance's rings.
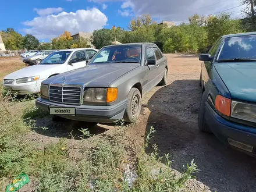
[[50,86],[50,101],[60,102],[62,104],[80,104],[81,87],[72,86]]

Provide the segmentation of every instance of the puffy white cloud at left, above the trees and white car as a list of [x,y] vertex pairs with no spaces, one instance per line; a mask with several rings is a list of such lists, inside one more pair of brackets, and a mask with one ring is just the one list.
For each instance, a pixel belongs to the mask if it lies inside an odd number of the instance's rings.
[[77,10],[74,12],[61,12],[58,15],[35,17],[33,20],[23,22],[29,28],[23,29],[26,34],[33,34],[38,39],[57,37],[65,30],[74,34],[79,31],[92,32],[102,29],[108,18],[97,8]]

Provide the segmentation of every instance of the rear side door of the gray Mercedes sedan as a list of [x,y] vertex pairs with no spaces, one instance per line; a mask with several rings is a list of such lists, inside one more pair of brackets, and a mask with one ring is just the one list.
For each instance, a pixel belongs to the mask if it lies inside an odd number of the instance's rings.
[[159,83],[163,78],[163,73],[165,72],[165,58],[162,55],[162,52],[159,50],[158,47],[153,47],[153,50],[155,52],[155,57],[157,58],[157,82]]

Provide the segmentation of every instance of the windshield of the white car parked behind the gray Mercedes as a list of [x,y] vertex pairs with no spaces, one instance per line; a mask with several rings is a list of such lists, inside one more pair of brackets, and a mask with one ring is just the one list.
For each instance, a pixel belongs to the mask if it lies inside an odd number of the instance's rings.
[[55,64],[63,64],[69,57],[71,51],[58,51],[54,52],[51,55],[47,56],[40,65],[55,65]]

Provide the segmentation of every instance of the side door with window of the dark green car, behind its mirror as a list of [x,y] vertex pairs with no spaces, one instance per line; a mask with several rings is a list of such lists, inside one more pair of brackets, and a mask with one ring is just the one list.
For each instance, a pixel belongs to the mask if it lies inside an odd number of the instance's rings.
[[[219,38],[217,41],[215,41],[214,45],[209,50],[208,54],[211,55],[213,58],[215,58],[221,42],[222,42],[222,38]],[[211,76],[213,61],[214,61],[214,59],[212,59],[212,61],[202,62],[202,67],[201,67],[202,68],[202,84],[204,84],[205,89],[207,88],[207,82]]]

